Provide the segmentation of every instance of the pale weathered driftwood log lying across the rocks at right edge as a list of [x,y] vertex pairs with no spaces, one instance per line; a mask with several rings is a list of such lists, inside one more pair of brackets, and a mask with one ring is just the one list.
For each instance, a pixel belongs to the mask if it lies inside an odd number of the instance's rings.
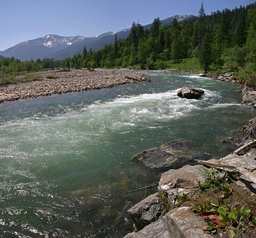
[[217,169],[231,169],[231,170],[238,170],[241,174],[243,174],[247,179],[252,181],[254,184],[256,184],[256,177],[249,171],[247,171],[244,167],[240,165],[230,165],[230,164],[223,164],[223,163],[214,163],[214,162],[208,162],[204,160],[195,160],[198,163],[201,163],[203,165],[212,167],[212,168],[217,168]]

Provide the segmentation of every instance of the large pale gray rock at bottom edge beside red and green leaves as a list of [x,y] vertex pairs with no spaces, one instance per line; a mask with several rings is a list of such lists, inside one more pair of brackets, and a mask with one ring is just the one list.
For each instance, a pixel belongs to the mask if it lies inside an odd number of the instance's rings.
[[172,238],[212,238],[202,228],[207,225],[204,218],[197,216],[188,207],[169,211],[163,217],[164,227]]

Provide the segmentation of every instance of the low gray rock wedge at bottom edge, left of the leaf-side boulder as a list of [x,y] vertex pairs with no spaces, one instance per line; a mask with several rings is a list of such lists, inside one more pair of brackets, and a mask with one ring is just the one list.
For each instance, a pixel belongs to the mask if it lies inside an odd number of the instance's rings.
[[165,229],[162,220],[158,220],[148,226],[145,226],[139,232],[132,232],[124,238],[172,238]]

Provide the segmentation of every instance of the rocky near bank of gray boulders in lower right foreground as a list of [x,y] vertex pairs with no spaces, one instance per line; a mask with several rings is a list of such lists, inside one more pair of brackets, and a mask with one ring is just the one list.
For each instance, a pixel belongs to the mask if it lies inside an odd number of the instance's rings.
[[[256,135],[255,128],[256,118],[250,120],[237,131],[238,139],[223,140],[223,146],[225,147],[228,141],[230,142],[228,143],[230,148],[233,148],[233,146],[237,148],[238,145],[241,147],[254,139],[253,136]],[[241,139],[241,137],[244,138]],[[216,202],[222,192],[221,190],[212,192],[211,189],[206,191],[201,189],[200,184],[202,185],[207,179],[205,176],[207,172],[205,171],[210,171],[210,169],[196,163],[194,160],[196,156],[189,154],[188,147],[193,148],[193,144],[188,140],[179,139],[135,156],[134,160],[139,161],[143,166],[153,168],[156,172],[165,172],[159,181],[158,192],[148,196],[128,210],[136,229],[135,232],[127,234],[125,238],[210,238],[216,237],[216,233],[218,237],[229,237],[229,230],[225,228],[218,228],[214,235],[210,231],[204,231],[203,227],[206,227],[207,222],[213,219],[203,216],[189,207],[191,203],[196,204],[204,200]],[[206,158],[200,159],[204,160]],[[253,147],[247,148],[244,154],[232,153],[221,161],[213,158],[208,162],[217,163],[219,166],[240,166],[246,168],[252,176],[256,175],[256,149]],[[224,176],[221,170],[216,172],[219,173],[220,178]],[[217,174],[214,176],[217,176]],[[248,177],[237,173],[236,170],[229,169],[228,176],[232,192],[223,201],[227,202],[230,207],[236,207],[237,209],[248,206],[255,216],[256,185],[248,180]],[[227,181],[227,179],[223,181]],[[179,198],[183,194],[187,194],[190,201],[181,200],[180,202]],[[227,209],[229,208],[227,207]],[[215,215],[212,216],[215,218]],[[212,224],[214,223],[212,222]],[[235,228],[235,232],[243,235],[241,237],[255,237],[256,235],[254,226],[248,225],[244,226],[243,229],[240,228],[240,230]]]

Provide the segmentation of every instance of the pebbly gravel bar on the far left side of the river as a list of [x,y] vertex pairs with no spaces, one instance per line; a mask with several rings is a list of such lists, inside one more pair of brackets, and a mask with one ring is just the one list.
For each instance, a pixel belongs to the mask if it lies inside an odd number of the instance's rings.
[[[18,99],[37,98],[52,94],[111,88],[125,83],[150,81],[144,74],[116,70],[51,70],[19,76],[38,75],[37,81],[0,86],[0,103]],[[53,78],[47,78],[47,77]]]

